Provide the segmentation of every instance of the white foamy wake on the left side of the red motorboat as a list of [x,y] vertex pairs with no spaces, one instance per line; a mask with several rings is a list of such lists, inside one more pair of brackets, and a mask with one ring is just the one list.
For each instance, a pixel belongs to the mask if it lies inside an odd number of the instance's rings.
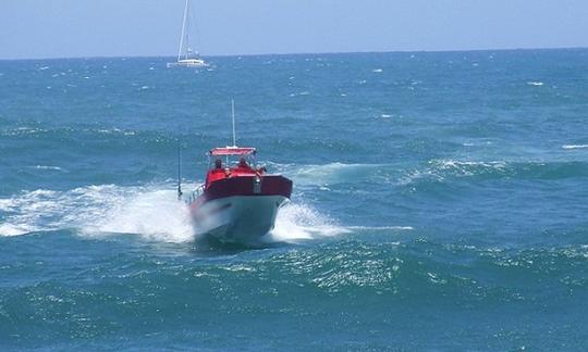
[[192,238],[183,204],[158,186],[88,186],[24,191],[0,199],[0,236],[74,229],[81,236],[136,234],[170,242]]

